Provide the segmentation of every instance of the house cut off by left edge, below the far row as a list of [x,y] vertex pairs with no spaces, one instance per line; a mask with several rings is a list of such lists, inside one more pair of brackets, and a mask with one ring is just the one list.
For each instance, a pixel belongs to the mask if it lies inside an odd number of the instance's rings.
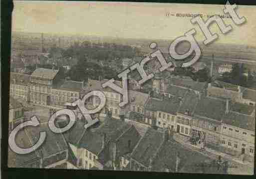
[[9,132],[22,123],[24,119],[24,109],[20,102],[13,97],[9,97]]

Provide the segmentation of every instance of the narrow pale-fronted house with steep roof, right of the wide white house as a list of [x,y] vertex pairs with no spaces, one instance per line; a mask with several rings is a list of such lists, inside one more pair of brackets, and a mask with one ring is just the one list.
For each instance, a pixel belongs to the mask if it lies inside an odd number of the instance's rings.
[[193,91],[187,91],[181,100],[180,108],[176,116],[175,131],[185,136],[192,136],[191,121],[193,113],[199,102],[199,95]]

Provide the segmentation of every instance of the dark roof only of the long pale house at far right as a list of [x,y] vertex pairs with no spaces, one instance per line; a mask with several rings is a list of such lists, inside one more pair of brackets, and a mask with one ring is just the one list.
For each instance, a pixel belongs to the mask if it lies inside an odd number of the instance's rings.
[[230,111],[223,117],[223,123],[249,131],[255,131],[255,117]]

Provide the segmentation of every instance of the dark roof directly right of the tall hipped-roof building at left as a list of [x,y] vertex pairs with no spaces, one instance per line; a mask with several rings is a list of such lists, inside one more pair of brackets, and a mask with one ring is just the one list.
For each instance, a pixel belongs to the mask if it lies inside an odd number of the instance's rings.
[[82,81],[72,81],[72,80],[59,80],[59,82],[54,86],[55,89],[67,90],[67,91],[81,91],[83,87]]

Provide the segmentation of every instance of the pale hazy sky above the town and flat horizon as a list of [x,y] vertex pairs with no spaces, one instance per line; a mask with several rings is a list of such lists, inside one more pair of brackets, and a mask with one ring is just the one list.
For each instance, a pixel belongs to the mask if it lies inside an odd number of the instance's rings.
[[[191,28],[198,41],[204,40],[191,18],[166,16],[171,13],[224,14],[224,5],[82,2],[82,1],[14,1],[12,29],[24,32],[79,33],[131,38],[174,39]],[[256,46],[256,6],[239,6],[237,12],[247,22],[236,26],[225,18],[233,30],[226,35],[214,24],[210,29],[220,34],[218,42]]]

